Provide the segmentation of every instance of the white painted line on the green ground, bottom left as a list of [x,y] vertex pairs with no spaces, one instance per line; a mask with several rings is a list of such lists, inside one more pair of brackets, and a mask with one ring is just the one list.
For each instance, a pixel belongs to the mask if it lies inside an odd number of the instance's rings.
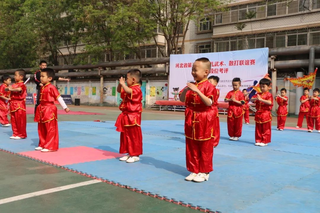
[[22,194],[22,195],[2,199],[2,200],[0,200],[0,204],[9,203],[9,202],[13,202],[13,201],[19,201],[19,200],[30,198],[30,197],[35,197],[35,196],[39,196],[39,195],[43,195],[43,194],[49,194],[52,192],[59,192],[59,191],[66,190],[66,189],[72,189],[72,188],[76,188],[79,186],[86,186],[86,185],[100,183],[100,182],[101,182],[100,180],[89,180],[89,181],[70,184],[70,185],[66,185],[66,186],[60,186],[60,187],[56,187],[56,188],[52,188],[52,189],[46,189],[46,190],[42,190],[42,191],[38,191],[38,192],[32,192],[29,194]]

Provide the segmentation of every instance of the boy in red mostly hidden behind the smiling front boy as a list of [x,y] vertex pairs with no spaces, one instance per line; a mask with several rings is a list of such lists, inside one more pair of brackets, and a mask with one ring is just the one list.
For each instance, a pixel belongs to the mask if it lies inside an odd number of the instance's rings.
[[218,98],[220,96],[220,89],[217,89],[217,85],[219,83],[220,78],[218,76],[209,76],[208,81],[212,83],[213,86],[216,87],[217,90],[217,98],[213,100],[212,109],[213,114],[217,114],[217,116],[214,118],[214,138],[213,140],[213,148],[216,148],[219,144],[220,140],[220,122],[219,122],[219,112],[218,112]]

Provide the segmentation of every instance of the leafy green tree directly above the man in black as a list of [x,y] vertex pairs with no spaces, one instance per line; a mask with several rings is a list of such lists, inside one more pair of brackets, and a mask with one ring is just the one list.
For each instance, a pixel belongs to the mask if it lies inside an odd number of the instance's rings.
[[[24,21],[38,38],[36,42],[39,56],[48,57],[53,65],[59,65],[59,55],[64,56],[60,51],[61,42],[72,41],[73,52],[76,52],[77,33],[81,33],[83,28],[77,25],[70,12],[75,4],[75,1],[26,0],[22,5],[26,14]],[[69,48],[68,51],[70,53]]]

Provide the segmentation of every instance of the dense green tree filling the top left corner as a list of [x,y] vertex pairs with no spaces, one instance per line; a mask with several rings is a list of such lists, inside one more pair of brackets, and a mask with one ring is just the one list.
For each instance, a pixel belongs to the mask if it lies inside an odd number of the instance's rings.
[[23,0],[0,2],[0,69],[31,67],[36,61],[35,34],[25,25]]

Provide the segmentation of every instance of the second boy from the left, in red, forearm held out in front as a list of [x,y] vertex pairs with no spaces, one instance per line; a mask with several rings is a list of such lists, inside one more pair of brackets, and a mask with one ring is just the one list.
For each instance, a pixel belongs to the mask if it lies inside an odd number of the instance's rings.
[[22,69],[14,72],[15,84],[8,86],[4,91],[10,91],[10,114],[12,136],[10,139],[22,139],[27,137],[27,113],[26,95],[27,87],[23,83],[26,72]]

